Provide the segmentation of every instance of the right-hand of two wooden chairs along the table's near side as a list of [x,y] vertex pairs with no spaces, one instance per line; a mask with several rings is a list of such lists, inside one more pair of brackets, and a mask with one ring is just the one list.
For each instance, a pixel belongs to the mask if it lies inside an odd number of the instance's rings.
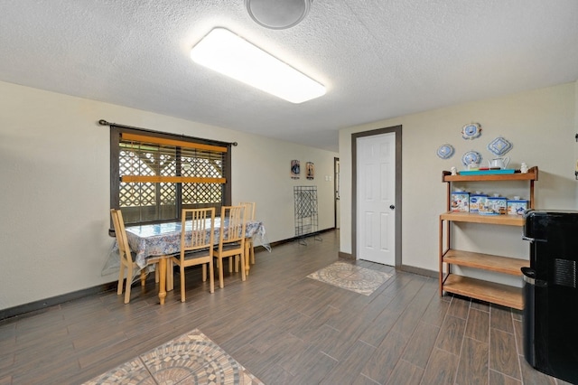
[[223,259],[229,258],[229,271],[232,270],[233,258],[238,256],[241,265],[241,280],[245,275],[245,206],[222,206],[220,211],[219,244],[215,246],[213,255],[217,258],[219,270],[219,287],[224,287]]

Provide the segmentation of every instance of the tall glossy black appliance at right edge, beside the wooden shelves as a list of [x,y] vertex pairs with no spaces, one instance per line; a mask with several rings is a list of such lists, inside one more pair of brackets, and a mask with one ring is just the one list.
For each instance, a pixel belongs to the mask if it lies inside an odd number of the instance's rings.
[[524,355],[538,371],[578,384],[578,211],[524,216]]

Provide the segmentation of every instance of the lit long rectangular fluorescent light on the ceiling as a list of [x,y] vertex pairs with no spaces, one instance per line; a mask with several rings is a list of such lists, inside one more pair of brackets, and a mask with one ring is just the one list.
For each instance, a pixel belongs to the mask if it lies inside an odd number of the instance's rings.
[[192,47],[191,59],[292,103],[325,94],[322,84],[224,28],[213,29]]

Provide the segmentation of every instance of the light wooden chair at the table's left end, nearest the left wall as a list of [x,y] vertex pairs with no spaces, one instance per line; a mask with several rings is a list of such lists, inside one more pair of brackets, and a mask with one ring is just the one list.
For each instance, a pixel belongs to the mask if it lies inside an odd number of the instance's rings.
[[[138,268],[135,262],[135,254],[130,251],[128,246],[128,239],[126,238],[125,221],[123,220],[123,213],[120,210],[111,209],[110,215],[112,223],[115,227],[115,236],[117,237],[118,255],[120,257],[120,271],[118,272],[118,288],[117,295],[123,294],[123,286],[125,287],[125,304],[130,302],[130,286],[133,283],[134,269]],[[147,261],[148,265],[158,262],[158,259],[150,259]],[[126,268],[126,284],[125,282],[125,268]],[[158,271],[158,268],[155,269]],[[158,277],[158,276],[157,276]],[[141,269],[141,285],[144,286],[146,278],[145,268]],[[158,278],[157,278],[158,280]]]

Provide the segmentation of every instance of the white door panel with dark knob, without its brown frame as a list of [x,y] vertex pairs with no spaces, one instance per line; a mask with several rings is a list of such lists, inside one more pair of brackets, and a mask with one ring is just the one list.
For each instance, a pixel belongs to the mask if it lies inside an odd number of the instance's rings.
[[357,138],[357,255],[396,264],[396,133]]

